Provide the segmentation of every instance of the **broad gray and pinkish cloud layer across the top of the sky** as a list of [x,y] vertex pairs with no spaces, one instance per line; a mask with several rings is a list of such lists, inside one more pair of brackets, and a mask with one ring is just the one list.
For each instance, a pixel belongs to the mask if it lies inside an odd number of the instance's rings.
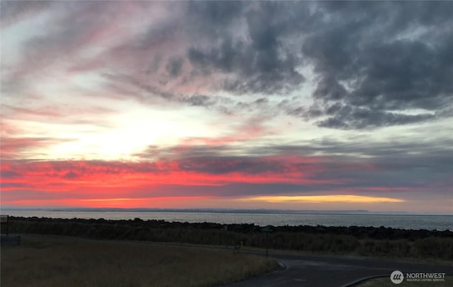
[[[119,3],[52,5],[59,13],[57,25],[26,43],[27,61],[34,52],[52,50],[67,55],[80,45],[90,45],[93,31],[108,25],[105,19],[109,17],[127,21],[117,12],[121,11]],[[13,23],[52,5],[2,2],[2,23]],[[130,75],[145,98],[158,94],[188,105],[211,107],[219,105],[216,93],[223,91],[256,94],[257,99],[285,97],[306,83],[309,75],[302,70],[311,67],[316,88],[308,96],[315,105],[294,107],[296,103],[286,99],[285,109],[282,105],[275,105],[275,109],[335,129],[386,127],[452,116],[452,2],[190,1],[128,5],[149,11],[150,18],[159,6],[166,6],[164,10],[169,13],[168,18],[150,24],[144,33],[104,55],[115,67],[110,73]],[[81,15],[86,21],[80,21]],[[53,54],[36,57],[34,63],[38,69],[55,59]],[[16,71],[15,81],[21,76]],[[168,88],[189,85],[200,78],[210,93]],[[113,77],[108,79],[113,81]],[[5,82],[5,87],[11,86]],[[255,109],[260,106],[255,105]]]

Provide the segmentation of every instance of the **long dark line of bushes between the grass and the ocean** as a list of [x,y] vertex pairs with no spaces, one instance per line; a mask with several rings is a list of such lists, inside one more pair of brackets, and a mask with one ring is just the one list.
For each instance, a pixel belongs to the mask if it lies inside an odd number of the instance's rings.
[[[96,239],[184,242],[202,245],[266,247],[266,236],[253,224],[11,217],[13,233],[80,236]],[[225,228],[226,226],[226,228]],[[453,259],[453,232],[373,227],[277,226],[268,247],[334,254]]]

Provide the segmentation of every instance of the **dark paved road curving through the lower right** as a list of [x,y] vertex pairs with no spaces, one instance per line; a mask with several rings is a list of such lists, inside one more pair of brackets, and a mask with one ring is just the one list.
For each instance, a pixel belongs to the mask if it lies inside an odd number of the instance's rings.
[[[285,254],[271,254],[271,256],[284,264],[286,268],[267,276],[234,283],[228,287],[352,286],[354,283],[370,277],[389,277],[391,272],[395,270],[402,271],[403,274],[407,272],[445,272],[446,275],[453,275],[453,267],[444,265],[415,264],[362,257]],[[435,283],[430,286],[434,287]]]

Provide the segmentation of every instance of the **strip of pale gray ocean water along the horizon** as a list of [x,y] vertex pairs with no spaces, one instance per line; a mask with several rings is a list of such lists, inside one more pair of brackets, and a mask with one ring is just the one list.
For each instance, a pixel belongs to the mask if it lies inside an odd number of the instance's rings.
[[374,226],[403,229],[453,230],[453,216],[338,214],[338,213],[234,213],[161,211],[1,211],[10,216],[48,218],[104,218],[164,220],[189,223],[254,223],[256,225]]

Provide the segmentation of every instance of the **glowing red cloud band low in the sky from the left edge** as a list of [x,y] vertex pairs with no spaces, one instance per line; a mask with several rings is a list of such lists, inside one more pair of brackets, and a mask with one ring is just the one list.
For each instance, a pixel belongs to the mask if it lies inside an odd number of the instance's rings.
[[[4,160],[1,163],[3,204],[25,204],[23,192],[46,200],[126,199],[171,197],[168,187],[187,187],[187,196],[200,196],[197,187],[242,184],[282,183],[319,185],[329,180],[311,180],[313,170],[298,168],[313,163],[314,158],[212,158],[150,162],[26,161]],[[315,168],[314,170],[319,170]],[[180,194],[181,192],[178,192]],[[215,192],[206,197],[215,196]],[[226,194],[224,194],[226,195]],[[65,199],[66,198],[66,199]],[[6,199],[6,200],[5,200]],[[37,203],[44,199],[37,198]],[[40,201],[41,200],[41,201]],[[87,201],[85,206],[96,204]],[[27,203],[28,204],[28,203]]]

